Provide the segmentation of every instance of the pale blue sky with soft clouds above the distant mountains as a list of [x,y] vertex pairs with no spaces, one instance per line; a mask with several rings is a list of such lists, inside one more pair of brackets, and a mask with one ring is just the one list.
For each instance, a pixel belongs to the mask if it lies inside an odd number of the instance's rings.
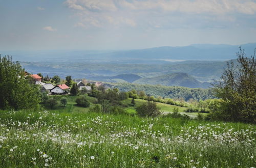
[[0,50],[256,42],[256,0],[0,0]]

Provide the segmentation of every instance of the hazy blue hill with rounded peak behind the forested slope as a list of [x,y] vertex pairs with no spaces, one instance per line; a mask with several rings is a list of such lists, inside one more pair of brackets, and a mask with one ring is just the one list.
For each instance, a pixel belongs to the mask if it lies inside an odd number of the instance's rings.
[[187,88],[209,88],[211,86],[210,83],[200,82],[186,73],[172,73],[160,75],[157,77],[141,78],[134,81],[134,83],[163,86],[180,86]]

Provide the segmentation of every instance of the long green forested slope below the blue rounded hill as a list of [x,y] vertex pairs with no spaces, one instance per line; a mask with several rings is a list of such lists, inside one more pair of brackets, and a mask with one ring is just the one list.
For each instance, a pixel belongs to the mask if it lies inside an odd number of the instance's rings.
[[127,92],[135,89],[137,91],[144,91],[146,94],[155,97],[163,98],[184,98],[186,101],[190,98],[196,100],[205,100],[209,98],[216,98],[213,89],[192,89],[176,86],[160,86],[160,85],[139,85],[135,83],[108,83],[111,88],[118,88],[120,91]]

